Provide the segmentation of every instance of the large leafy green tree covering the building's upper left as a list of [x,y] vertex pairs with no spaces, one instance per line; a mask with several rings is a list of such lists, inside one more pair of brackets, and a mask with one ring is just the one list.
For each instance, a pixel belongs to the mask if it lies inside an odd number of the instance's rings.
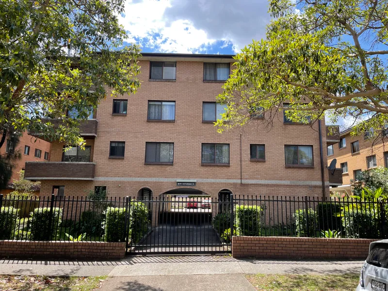
[[[11,126],[83,146],[79,121],[106,96],[104,86],[113,97],[136,92],[140,49],[123,47],[124,2],[0,2],[0,147]],[[47,117],[63,123],[55,128]]]

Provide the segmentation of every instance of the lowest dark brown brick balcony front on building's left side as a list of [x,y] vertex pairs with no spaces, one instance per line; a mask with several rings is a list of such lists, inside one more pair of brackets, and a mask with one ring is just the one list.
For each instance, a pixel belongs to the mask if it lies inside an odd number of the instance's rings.
[[93,180],[93,162],[26,162],[27,180]]

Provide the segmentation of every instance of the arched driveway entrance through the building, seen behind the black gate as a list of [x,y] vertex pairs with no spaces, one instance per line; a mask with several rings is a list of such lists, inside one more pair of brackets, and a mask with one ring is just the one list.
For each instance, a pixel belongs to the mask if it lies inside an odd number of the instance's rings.
[[[142,197],[140,194],[138,196]],[[226,223],[219,221],[219,217],[216,219],[220,207],[218,198],[212,198],[210,194],[199,189],[177,188],[160,194],[158,199],[151,200],[151,204],[155,223],[153,221],[148,235],[142,242],[132,245],[131,252],[138,254],[230,252],[230,241],[222,240],[225,229],[220,227]]]

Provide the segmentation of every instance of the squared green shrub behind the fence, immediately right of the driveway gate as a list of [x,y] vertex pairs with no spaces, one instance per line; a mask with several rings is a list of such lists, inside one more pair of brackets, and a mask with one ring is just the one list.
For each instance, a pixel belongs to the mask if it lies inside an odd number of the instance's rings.
[[240,205],[236,207],[237,230],[240,235],[259,236],[261,207]]

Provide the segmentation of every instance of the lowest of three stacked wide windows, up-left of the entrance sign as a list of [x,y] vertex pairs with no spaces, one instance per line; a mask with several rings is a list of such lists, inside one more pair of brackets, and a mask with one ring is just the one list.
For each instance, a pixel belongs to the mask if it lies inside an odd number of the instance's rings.
[[174,161],[174,143],[146,143],[146,163]]

